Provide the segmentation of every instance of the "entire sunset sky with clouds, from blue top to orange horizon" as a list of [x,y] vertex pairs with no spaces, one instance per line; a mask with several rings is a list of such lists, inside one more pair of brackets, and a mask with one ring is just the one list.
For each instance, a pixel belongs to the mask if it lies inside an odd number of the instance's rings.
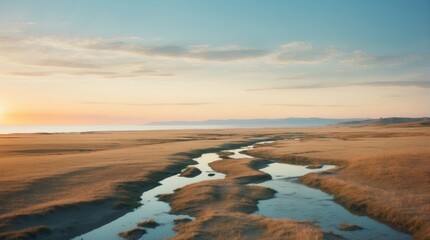
[[0,124],[430,116],[429,0],[2,0]]

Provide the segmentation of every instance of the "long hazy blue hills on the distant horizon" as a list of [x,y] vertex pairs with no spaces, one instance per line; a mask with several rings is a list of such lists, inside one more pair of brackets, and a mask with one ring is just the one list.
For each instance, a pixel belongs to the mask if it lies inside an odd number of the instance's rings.
[[173,121],[152,122],[148,126],[222,126],[222,127],[316,127],[334,125],[341,122],[358,122],[361,119],[331,119],[331,118],[280,118],[280,119],[225,119],[206,121]]

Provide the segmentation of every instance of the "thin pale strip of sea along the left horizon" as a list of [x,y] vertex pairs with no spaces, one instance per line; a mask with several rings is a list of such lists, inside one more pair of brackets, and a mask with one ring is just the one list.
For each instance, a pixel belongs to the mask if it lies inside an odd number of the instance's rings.
[[0,125],[0,134],[11,133],[80,133],[95,131],[142,131],[175,129],[219,129],[232,126],[147,126],[147,125]]

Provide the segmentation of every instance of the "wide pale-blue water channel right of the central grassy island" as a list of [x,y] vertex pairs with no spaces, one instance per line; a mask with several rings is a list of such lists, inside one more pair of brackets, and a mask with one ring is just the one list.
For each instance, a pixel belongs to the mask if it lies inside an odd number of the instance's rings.
[[[317,171],[333,167],[326,165]],[[255,185],[272,188],[277,193],[274,198],[260,201],[259,211],[255,214],[271,218],[312,221],[324,231],[333,231],[347,239],[411,239],[409,235],[371,218],[351,214],[336,204],[332,195],[297,182],[297,177],[315,170],[306,169],[304,166],[272,163],[261,171],[270,174],[273,179]],[[342,223],[356,224],[363,230],[340,231],[337,227]]]

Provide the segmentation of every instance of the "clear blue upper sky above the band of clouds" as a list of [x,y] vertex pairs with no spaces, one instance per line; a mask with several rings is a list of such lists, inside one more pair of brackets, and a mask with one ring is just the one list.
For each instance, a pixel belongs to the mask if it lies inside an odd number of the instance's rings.
[[[2,0],[1,24],[34,34],[139,36],[176,44],[274,48],[289,41],[381,53],[428,48],[428,0],[21,1]],[[428,49],[426,49],[428,51]]]

